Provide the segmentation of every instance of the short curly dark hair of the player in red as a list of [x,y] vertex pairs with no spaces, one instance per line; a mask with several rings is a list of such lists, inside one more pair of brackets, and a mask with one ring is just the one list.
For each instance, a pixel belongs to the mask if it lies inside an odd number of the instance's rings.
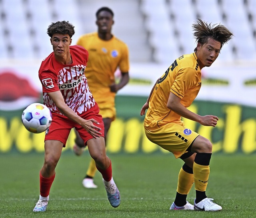
[[50,26],[48,26],[47,34],[52,38],[53,34],[68,34],[70,38],[75,34],[74,26],[70,24],[68,21],[57,21],[52,22]]

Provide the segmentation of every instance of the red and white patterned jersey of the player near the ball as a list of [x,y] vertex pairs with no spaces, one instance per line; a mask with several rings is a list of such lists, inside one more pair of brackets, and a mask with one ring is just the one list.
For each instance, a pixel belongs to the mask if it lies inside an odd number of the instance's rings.
[[88,61],[88,51],[82,46],[70,46],[73,63],[63,65],[56,61],[54,52],[42,61],[39,78],[43,87],[44,104],[52,111],[62,114],[48,92],[60,90],[66,104],[76,114],[81,114],[95,105],[89,90],[84,70]]

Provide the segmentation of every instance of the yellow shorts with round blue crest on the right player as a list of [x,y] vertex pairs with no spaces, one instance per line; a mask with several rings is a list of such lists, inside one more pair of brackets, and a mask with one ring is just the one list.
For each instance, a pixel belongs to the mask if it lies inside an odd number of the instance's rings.
[[172,152],[175,158],[186,153],[188,147],[199,136],[198,133],[176,123],[168,123],[154,130],[144,130],[151,142]]

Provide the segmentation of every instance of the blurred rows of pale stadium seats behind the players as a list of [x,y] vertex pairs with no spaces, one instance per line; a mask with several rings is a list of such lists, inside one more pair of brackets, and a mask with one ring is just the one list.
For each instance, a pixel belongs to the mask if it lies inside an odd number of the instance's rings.
[[222,60],[255,60],[256,0],[235,4],[234,0],[109,0],[104,4],[104,0],[0,0],[0,39],[4,37],[0,58],[45,58],[52,52],[46,30],[57,20],[69,20],[75,26],[75,44],[80,35],[97,31],[95,12],[100,5],[114,10],[113,32],[128,44],[132,61],[148,62],[153,57],[156,62],[170,63],[193,52],[191,26],[197,17],[221,23],[234,33],[221,51]]

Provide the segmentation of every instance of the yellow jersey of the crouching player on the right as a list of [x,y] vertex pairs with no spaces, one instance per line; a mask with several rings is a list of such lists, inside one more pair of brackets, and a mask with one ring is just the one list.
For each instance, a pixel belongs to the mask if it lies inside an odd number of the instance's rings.
[[186,108],[196,98],[201,87],[201,70],[195,53],[185,54],[174,61],[156,84],[149,101],[144,126],[156,129],[175,122],[183,125],[180,115],[167,108],[170,92],[181,98]]

